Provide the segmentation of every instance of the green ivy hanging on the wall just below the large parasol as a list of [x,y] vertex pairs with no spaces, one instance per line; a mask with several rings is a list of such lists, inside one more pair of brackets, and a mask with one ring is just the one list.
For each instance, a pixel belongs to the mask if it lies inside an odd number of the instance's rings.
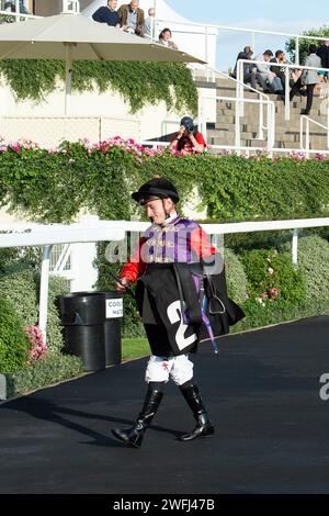
[[[44,99],[65,80],[65,63],[56,59],[0,59],[0,72],[18,100]],[[178,63],[73,61],[72,89],[78,92],[112,88],[129,102],[132,113],[164,101],[167,109],[193,115],[197,90],[190,69]]]

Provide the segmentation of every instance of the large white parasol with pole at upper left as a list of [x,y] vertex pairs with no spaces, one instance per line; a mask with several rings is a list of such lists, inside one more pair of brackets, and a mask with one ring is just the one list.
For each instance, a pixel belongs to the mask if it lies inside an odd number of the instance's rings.
[[66,114],[73,59],[204,63],[186,53],[151,43],[70,11],[1,25],[0,59],[11,58],[66,61]]

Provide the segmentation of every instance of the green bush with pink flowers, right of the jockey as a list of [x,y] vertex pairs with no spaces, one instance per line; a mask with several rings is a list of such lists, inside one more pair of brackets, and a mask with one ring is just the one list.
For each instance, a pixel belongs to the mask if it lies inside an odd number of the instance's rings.
[[[248,294],[262,303],[287,303],[303,305],[306,300],[305,281],[292,263],[288,253],[276,250],[251,250],[241,256],[248,277]],[[273,291],[277,289],[277,292]]]

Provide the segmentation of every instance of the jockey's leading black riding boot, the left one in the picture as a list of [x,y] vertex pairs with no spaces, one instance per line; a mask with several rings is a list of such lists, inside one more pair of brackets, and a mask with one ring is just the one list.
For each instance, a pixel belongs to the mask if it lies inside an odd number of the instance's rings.
[[112,434],[127,446],[139,448],[143,441],[145,430],[150,425],[156,412],[160,405],[163,393],[150,385],[146,392],[144,405],[139,413],[136,423],[126,429],[113,428]]

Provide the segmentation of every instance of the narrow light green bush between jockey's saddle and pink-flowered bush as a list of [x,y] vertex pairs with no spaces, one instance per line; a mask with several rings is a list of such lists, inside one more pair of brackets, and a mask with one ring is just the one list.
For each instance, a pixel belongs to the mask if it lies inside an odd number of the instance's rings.
[[247,276],[241,261],[231,249],[224,251],[228,296],[236,303],[243,303],[247,299]]

